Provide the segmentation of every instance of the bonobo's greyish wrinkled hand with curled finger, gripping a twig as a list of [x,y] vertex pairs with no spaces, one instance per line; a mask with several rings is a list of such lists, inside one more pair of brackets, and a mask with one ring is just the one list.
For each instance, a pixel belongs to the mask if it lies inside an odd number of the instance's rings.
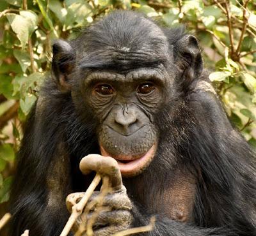
[[[94,235],[104,236],[129,228],[133,221],[132,203],[122,184],[121,173],[115,159],[94,154],[89,155],[82,159],[80,169],[84,174],[94,170],[102,177],[108,176],[110,188],[104,198],[102,198],[102,191],[93,193],[86,205],[86,207],[90,205],[93,205],[93,207],[87,212],[85,209],[83,215],[77,219],[75,230],[81,224],[93,224]],[[72,205],[78,202],[83,195],[84,193],[68,195],[68,210],[71,210]],[[102,206],[102,210],[99,212],[95,212],[94,206],[97,208],[97,203]]]

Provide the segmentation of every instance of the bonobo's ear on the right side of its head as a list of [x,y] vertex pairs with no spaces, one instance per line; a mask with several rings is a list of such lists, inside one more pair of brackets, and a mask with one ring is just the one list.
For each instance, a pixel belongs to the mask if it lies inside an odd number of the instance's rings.
[[185,35],[174,45],[175,61],[185,77],[198,77],[203,70],[203,61],[198,41],[193,35]]

